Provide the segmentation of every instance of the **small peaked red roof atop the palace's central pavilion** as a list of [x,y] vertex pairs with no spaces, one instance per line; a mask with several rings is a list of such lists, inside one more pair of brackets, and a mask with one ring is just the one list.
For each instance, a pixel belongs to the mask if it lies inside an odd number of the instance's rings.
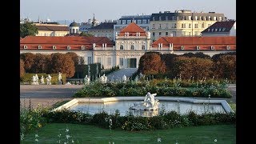
[[129,36],[136,36],[136,33],[139,32],[141,36],[146,36],[146,31],[143,30],[136,23],[131,22],[126,28],[122,29],[119,32],[119,36],[125,36],[126,32],[129,32]]

